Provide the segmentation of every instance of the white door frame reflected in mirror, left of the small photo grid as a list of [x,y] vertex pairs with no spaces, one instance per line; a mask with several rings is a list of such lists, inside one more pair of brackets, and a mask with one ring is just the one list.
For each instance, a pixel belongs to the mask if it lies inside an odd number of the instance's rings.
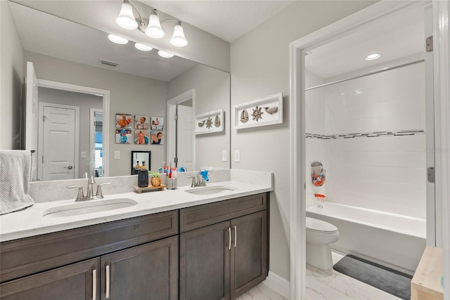
[[[110,171],[110,91],[96,89],[89,86],[78,86],[65,82],[37,79],[38,86],[48,89],[58,89],[62,91],[73,91],[76,93],[88,93],[90,95],[103,97],[103,176],[108,177]],[[106,116],[106,117],[105,117]]]

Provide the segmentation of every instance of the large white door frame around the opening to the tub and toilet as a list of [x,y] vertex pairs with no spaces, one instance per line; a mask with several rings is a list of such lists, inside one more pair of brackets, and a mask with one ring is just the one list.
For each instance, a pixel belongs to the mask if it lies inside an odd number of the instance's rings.
[[[442,2],[442,3],[441,3]],[[306,195],[305,162],[305,81],[304,56],[307,51],[346,34],[361,30],[371,22],[413,5],[425,6],[427,1],[380,1],[347,18],[334,22],[321,30],[290,43],[290,299],[304,299],[306,294]],[[442,247],[444,248],[444,290],[450,289],[450,46],[448,1],[433,0],[433,35],[435,41],[435,147],[436,151],[436,199],[441,202]],[[449,297],[449,292],[444,298]]]

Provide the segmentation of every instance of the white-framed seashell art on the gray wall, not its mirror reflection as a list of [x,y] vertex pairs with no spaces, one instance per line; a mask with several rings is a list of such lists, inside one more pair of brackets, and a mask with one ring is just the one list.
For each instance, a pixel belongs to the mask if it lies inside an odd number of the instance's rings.
[[283,93],[233,106],[233,129],[283,123]]

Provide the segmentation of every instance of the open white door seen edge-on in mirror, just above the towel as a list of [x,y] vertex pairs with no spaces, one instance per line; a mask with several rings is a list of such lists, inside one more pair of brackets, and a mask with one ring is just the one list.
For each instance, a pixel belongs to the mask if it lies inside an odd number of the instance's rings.
[[[25,79],[25,150],[37,150],[37,77],[33,63],[27,62],[27,77]],[[37,178],[37,153],[33,155],[32,178]]]

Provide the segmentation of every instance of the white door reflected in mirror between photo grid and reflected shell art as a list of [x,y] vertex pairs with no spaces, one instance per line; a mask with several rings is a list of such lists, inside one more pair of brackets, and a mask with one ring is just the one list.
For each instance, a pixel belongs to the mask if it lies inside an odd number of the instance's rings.
[[188,171],[195,169],[194,151],[194,110],[193,107],[178,105],[176,122],[176,167],[185,167]]

